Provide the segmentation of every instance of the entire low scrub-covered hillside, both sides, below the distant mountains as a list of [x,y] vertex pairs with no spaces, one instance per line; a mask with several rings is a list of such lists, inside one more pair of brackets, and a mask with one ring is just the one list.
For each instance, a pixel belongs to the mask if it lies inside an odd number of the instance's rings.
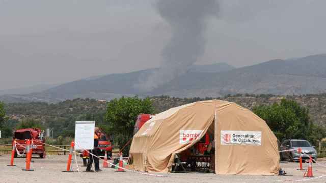
[[[274,96],[274,95],[249,95],[238,94],[228,95],[221,100],[236,102],[248,109],[253,109],[256,105],[273,104],[280,102],[282,98],[294,99],[302,106],[309,109],[310,118],[315,124],[326,125],[326,94],[310,94],[302,96]],[[209,100],[212,98],[174,98],[169,96],[152,97],[151,101],[155,108],[155,113],[162,112],[171,107]],[[106,101],[95,99],[74,99],[66,100],[57,104],[42,102],[32,103],[11,103],[5,105],[6,114],[10,120],[7,125],[11,128],[23,120],[35,120],[42,124],[43,128],[53,127],[55,136],[72,136],[74,122],[76,120],[95,120],[98,124],[104,121],[106,111]]]

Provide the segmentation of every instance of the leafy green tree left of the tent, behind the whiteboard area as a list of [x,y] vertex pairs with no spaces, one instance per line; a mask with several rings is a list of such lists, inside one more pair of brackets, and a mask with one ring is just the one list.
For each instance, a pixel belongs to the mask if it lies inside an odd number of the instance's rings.
[[[114,136],[114,142],[122,148],[133,137],[134,125],[138,114],[152,114],[154,108],[149,98],[122,97],[108,102],[101,128],[107,134]],[[125,148],[123,153],[129,153]]]

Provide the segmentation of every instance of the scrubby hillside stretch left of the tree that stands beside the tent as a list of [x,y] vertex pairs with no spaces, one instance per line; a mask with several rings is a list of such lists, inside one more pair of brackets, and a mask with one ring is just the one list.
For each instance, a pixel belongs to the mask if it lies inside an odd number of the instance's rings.
[[106,101],[74,99],[48,104],[44,102],[11,103],[5,105],[11,128],[25,120],[33,120],[45,128],[54,128],[53,135],[72,136],[74,121],[95,120],[103,122]]

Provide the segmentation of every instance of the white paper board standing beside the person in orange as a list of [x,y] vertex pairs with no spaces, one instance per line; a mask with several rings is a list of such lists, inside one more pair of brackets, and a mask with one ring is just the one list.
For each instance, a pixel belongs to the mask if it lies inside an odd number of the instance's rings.
[[94,148],[95,121],[76,121],[75,150]]

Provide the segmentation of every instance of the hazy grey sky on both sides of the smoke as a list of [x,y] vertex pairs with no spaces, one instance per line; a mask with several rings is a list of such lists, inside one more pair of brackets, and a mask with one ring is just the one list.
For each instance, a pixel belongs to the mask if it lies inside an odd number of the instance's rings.
[[[326,53],[326,1],[216,1],[195,64],[243,67]],[[0,90],[159,67],[171,26],[156,4],[0,0]]]

